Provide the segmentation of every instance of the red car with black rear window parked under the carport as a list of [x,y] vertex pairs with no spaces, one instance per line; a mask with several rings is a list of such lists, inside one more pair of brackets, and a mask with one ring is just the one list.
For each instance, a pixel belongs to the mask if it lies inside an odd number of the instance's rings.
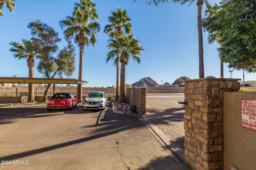
[[47,111],[52,109],[72,110],[74,106],[77,106],[77,98],[72,93],[55,93],[48,101]]

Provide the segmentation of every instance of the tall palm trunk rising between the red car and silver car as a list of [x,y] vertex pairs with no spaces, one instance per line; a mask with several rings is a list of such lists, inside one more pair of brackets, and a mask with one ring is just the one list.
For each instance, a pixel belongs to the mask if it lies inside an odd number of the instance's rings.
[[[84,45],[79,46],[79,75],[78,80],[82,80],[82,74],[83,74],[83,55],[84,55]],[[78,102],[83,101],[83,89],[82,84],[77,85],[77,100]]]

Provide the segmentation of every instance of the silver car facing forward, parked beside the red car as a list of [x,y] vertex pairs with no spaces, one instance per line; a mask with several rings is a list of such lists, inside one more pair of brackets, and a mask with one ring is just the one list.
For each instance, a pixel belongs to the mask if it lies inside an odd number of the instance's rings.
[[82,109],[105,109],[108,96],[105,92],[90,92],[83,101]]

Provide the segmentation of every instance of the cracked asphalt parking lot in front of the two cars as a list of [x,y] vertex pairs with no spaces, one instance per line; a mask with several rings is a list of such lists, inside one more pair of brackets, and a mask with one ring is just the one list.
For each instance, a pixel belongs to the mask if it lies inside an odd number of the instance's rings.
[[0,169],[187,170],[136,113],[0,106]]

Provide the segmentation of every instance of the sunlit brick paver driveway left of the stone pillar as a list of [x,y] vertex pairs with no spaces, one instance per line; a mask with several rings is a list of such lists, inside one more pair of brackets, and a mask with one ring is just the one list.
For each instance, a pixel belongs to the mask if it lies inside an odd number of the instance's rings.
[[185,107],[178,104],[182,97],[146,98],[146,117],[160,129],[173,143],[184,151]]

